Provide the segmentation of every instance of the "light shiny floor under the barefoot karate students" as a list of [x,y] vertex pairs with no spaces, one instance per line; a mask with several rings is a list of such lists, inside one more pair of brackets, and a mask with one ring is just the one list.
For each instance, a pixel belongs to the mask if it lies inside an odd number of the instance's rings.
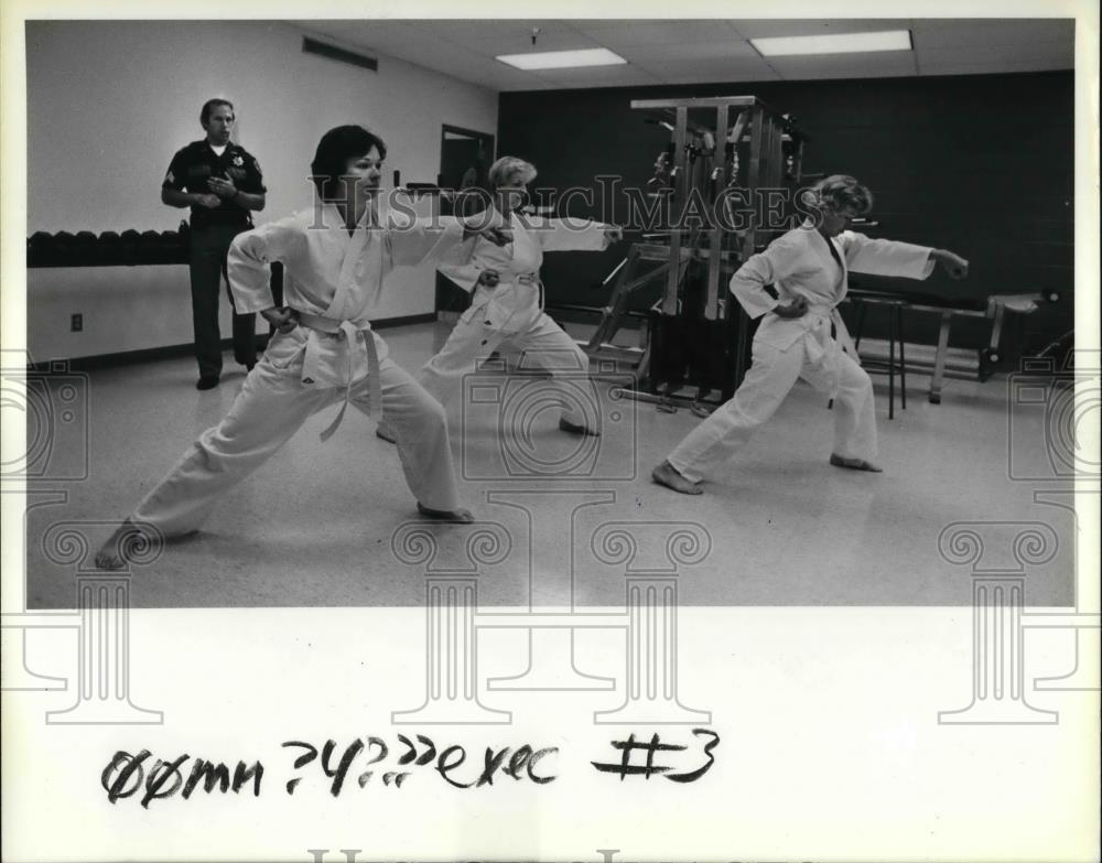
[[[415,369],[446,328],[424,324],[388,330],[391,355]],[[106,522],[127,515],[195,436],[229,408],[244,379],[231,358],[217,389],[194,389],[192,359],[151,363],[89,375],[89,472],[82,482],[37,484],[64,500],[30,510],[29,608],[72,607],[74,568],[44,553],[58,522],[77,522],[91,541]],[[504,560],[480,567],[483,606],[620,606],[625,564],[598,560],[592,538],[608,521],[627,521],[639,539],[639,569],[668,565],[663,525],[687,522],[706,532],[711,553],[679,568],[682,605],[966,605],[971,579],[938,553],[938,535],[959,520],[1042,521],[1060,538],[1048,564],[1028,574],[1029,605],[1073,602],[1070,516],[1033,503],[1038,484],[1008,478],[1007,386],[948,381],[943,402],[929,404],[928,381],[912,378],[908,410],[887,419],[886,379],[875,378],[882,475],[841,471],[827,463],[831,414],[823,399],[797,385],[774,420],[701,497],[651,484],[652,465],[699,420],[688,410],[660,413],[646,403],[612,401],[601,387],[608,431],[596,453],[605,477],[547,479],[501,473],[494,404],[477,406],[465,433],[454,434],[465,503],[500,525],[510,543]],[[501,398],[533,386],[523,380]],[[542,388],[545,385],[534,385]],[[528,390],[531,393],[533,390]],[[554,429],[541,399],[528,399],[531,439],[541,459],[568,459],[576,441]],[[331,409],[332,411],[332,409]],[[399,561],[396,530],[415,520],[395,450],[353,412],[326,444],[314,417],[267,465],[228,495],[198,535],[171,542],[149,565],[136,568],[131,602],[139,607],[419,605],[424,565]],[[611,418],[616,413],[618,421]],[[1015,416],[1036,446],[1017,452],[1044,472],[1037,412]],[[634,432],[633,432],[634,427]],[[71,435],[74,432],[68,432]],[[1017,438],[1016,438],[1017,439]],[[55,462],[79,462],[79,438]],[[527,450],[517,450],[520,459]],[[582,456],[579,457],[586,463]],[[634,475],[633,475],[634,474]],[[490,503],[487,495],[504,498]],[[599,501],[614,497],[614,501]],[[32,498],[33,499],[33,498]],[[507,503],[506,503],[507,501]],[[510,505],[511,504],[511,505]],[[593,504],[583,506],[584,504]],[[640,522],[657,522],[644,526]],[[430,528],[441,543],[433,565],[455,568],[469,528]],[[56,558],[56,551],[52,552]],[[606,555],[607,561],[607,555]]]

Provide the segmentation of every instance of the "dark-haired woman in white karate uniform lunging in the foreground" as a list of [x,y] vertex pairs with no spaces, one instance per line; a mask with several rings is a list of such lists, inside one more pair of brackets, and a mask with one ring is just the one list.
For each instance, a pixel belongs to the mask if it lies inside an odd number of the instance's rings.
[[[229,413],[204,432],[102,546],[97,563],[121,565],[120,539],[142,525],[164,537],[197,530],[229,490],[280,449],[309,417],[339,406],[327,440],[353,404],[381,412],[399,430],[406,482],[426,518],[471,521],[461,508],[443,408],[387,356],[368,320],[392,268],[417,265],[475,236],[504,244],[508,231],[482,219],[391,216],[380,223],[378,185],[386,144],[358,126],[322,137],[311,164],[315,206],[240,234],[229,250],[237,309],[260,312],[277,334]],[[282,261],[282,309],[272,304],[269,265]]]

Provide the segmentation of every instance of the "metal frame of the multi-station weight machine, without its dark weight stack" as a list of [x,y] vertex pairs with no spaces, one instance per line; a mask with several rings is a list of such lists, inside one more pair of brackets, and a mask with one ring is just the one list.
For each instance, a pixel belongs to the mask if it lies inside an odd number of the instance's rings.
[[[669,182],[668,185],[659,183],[656,194],[670,197],[673,224],[666,241],[662,237],[645,236],[645,241],[631,244],[627,257],[605,280],[605,283],[615,280],[612,294],[602,310],[601,323],[583,347],[591,358],[628,362],[640,379],[647,379],[649,391],[636,390],[625,395],[665,406],[674,401],[689,401],[696,406],[713,401],[705,397],[719,389],[721,398],[715,403],[721,403],[733,395],[742,381],[747,365],[745,347],[749,341],[749,319],[728,296],[726,279],[778,233],[777,227],[759,224],[761,196],[768,190],[785,186],[795,191],[807,179],[802,173],[802,159],[804,143],[810,139],[790,117],[779,114],[755,96],[635,99],[631,108],[647,111],[655,121],[672,132],[672,141],[659,155],[656,163],[658,174],[651,182],[665,179],[665,158]],[[741,170],[743,159],[745,171]],[[743,175],[745,182],[741,182]],[[737,190],[737,196],[748,199],[753,207],[754,215],[744,229],[738,229],[733,218],[730,209],[732,201],[725,192],[728,188]],[[680,216],[688,212],[693,196],[711,208],[711,224],[706,228],[689,228],[682,224]],[[723,220],[715,217],[721,197],[728,216]],[[640,274],[644,262],[659,266]],[[702,301],[690,298],[687,290],[687,274],[693,262],[706,267]],[[628,309],[631,296],[657,279],[662,280],[662,295],[649,315],[651,328],[647,345],[614,345],[613,338],[625,320],[639,314]],[[733,320],[735,315],[737,320]],[[662,319],[685,317],[716,324],[726,322],[737,327],[731,374],[723,380],[703,381],[695,398],[679,395],[671,382],[657,380],[652,374],[656,365],[653,327],[661,325]],[[667,385],[666,391],[659,393],[662,384]]]

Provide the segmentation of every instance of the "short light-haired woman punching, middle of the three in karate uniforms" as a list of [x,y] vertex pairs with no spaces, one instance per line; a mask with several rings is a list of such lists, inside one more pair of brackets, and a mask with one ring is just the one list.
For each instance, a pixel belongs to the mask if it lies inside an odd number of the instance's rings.
[[[489,169],[494,187],[493,213],[511,230],[512,242],[496,246],[478,238],[453,248],[437,269],[460,288],[474,292],[471,308],[447,342],[422,367],[421,384],[445,408],[476,370],[479,359],[495,350],[521,353],[527,368],[557,376],[587,374],[590,358],[543,311],[540,267],[545,251],[601,251],[622,237],[613,225],[587,219],[551,219],[517,212],[536,168],[516,157],[503,157]],[[562,401],[559,428],[572,434],[599,434],[586,425],[572,401]],[[386,419],[386,418],[385,418]],[[389,422],[378,427],[383,440],[400,440]]]

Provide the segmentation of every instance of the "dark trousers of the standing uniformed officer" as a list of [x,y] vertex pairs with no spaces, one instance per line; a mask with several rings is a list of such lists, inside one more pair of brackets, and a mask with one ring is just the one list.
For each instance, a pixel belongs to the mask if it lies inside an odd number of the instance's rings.
[[[191,230],[192,320],[195,325],[195,358],[201,377],[222,374],[222,333],[218,330],[218,294],[226,278],[226,252],[234,237],[248,225],[209,225]],[[226,293],[234,294],[226,279]],[[241,365],[257,362],[255,314],[234,314],[234,359]]]

